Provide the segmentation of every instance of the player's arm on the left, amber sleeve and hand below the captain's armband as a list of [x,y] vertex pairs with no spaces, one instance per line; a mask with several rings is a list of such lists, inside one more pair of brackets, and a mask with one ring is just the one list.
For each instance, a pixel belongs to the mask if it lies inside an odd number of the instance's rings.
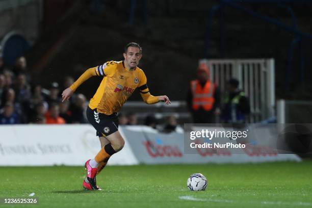
[[74,91],[83,84],[86,80],[88,80],[91,76],[96,76],[96,67],[87,69],[79,78],[74,82],[69,88],[65,89],[62,93],[62,102],[64,100],[68,100],[70,96],[74,93]]

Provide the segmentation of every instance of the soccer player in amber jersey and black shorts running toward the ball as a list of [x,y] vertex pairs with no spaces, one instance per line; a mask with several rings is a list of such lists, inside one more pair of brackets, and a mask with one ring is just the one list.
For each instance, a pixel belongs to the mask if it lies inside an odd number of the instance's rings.
[[62,93],[62,101],[68,100],[73,92],[91,76],[103,76],[87,109],[87,118],[96,129],[96,135],[101,143],[101,150],[94,159],[85,163],[87,177],[83,188],[100,190],[96,185],[96,175],[106,166],[110,157],[120,151],[124,140],[118,131],[117,113],[123,103],[136,88],[147,104],[159,101],[171,102],[166,95],[153,96],[147,88],[146,76],[138,66],[142,58],[142,48],[138,43],[128,43],[124,48],[124,61],[109,61],[103,65],[87,69],[78,80]]

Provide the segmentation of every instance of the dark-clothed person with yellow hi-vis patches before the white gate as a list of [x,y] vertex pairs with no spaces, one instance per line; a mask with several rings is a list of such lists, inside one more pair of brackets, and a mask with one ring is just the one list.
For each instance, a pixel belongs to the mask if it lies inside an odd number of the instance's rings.
[[239,81],[230,79],[222,107],[221,119],[224,123],[246,123],[250,107],[245,93],[239,90]]

